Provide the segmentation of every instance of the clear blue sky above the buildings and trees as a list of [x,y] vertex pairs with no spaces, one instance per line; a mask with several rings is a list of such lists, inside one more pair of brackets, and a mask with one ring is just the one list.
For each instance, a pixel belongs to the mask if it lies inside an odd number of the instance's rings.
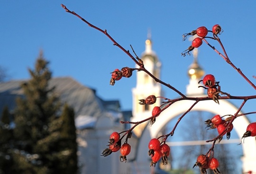
[[[50,61],[54,77],[71,76],[97,90],[105,100],[119,99],[122,109],[132,108],[131,88],[136,75],[110,86],[110,72],[135,63],[102,33],[68,14],[66,5],[91,24],[107,29],[125,49],[133,46],[137,55],[145,50],[147,31],[152,33],[153,50],[162,62],[161,80],[185,92],[192,56],[182,57],[191,42],[183,33],[199,26],[222,26],[220,35],[229,58],[248,78],[256,75],[256,1],[180,0],[8,0],[0,1],[0,66],[10,79],[27,79],[39,50]],[[217,42],[210,41],[219,49]],[[254,95],[255,90],[205,43],[199,49],[199,63],[206,74],[220,81],[222,91],[231,95]],[[178,95],[163,87],[167,98]],[[232,101],[237,106],[241,101]],[[244,112],[254,111],[248,101]],[[253,108],[254,107],[254,108]]]

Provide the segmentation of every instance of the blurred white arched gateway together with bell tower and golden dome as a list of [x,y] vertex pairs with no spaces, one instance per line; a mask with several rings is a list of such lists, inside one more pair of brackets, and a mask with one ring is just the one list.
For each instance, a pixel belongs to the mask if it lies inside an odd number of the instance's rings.
[[[156,54],[152,51],[152,42],[150,39],[146,40],[146,50],[142,54],[142,60],[145,63],[145,67],[154,74],[157,78],[160,78],[160,67]],[[187,96],[205,96],[204,89],[198,88],[198,81],[204,75],[204,71],[197,63],[197,49],[193,50],[194,62],[189,68],[188,75],[190,76],[190,83],[187,86],[186,95]],[[137,72],[137,86],[132,89],[133,92],[133,118],[131,121],[140,121],[151,115],[151,110],[154,106],[160,106],[161,101],[158,100],[154,105],[138,105],[138,99],[145,99],[149,95],[163,96],[161,91],[161,86],[159,83],[155,83],[154,80],[149,79],[147,75],[143,72]],[[137,143],[136,152],[136,163],[137,172],[143,174],[149,174],[150,171],[154,170],[149,166],[150,157],[147,156],[148,152],[148,142],[152,138],[156,138],[157,134],[166,126],[166,124],[176,116],[180,116],[187,111],[188,108],[192,106],[194,101],[183,100],[178,101],[171,105],[169,108],[165,109],[159,117],[157,117],[156,122],[152,126],[146,126],[147,124],[141,124],[136,127],[134,133],[139,138]],[[238,108],[232,105],[227,100],[219,100],[219,105],[212,100],[201,101],[196,106],[192,108],[191,111],[206,111],[212,114],[233,115],[237,112]],[[239,113],[241,114],[241,112]],[[242,137],[246,132],[247,125],[249,121],[246,116],[240,116],[236,118],[233,122],[234,129],[239,137]],[[175,136],[175,133],[174,133]],[[210,142],[211,143],[211,142]],[[245,142],[241,144],[243,150],[242,170],[243,172],[254,171],[256,172],[256,141],[255,137],[247,137]]]

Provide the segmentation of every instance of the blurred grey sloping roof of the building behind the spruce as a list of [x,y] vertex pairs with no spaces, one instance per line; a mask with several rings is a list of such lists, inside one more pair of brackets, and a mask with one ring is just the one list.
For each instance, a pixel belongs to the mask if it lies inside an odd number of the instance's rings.
[[[0,113],[5,106],[8,106],[10,111],[15,108],[15,99],[23,96],[20,84],[24,82],[26,80],[0,83]],[[71,77],[52,78],[49,86],[56,87],[55,91],[61,100],[74,108],[76,116],[99,117],[104,112],[102,100],[95,95],[95,90],[83,86]]]

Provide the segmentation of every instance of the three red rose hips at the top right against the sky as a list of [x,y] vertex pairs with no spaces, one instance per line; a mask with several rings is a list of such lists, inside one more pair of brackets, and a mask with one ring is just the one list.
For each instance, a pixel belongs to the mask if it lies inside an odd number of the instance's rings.
[[190,51],[194,50],[194,48],[200,47],[202,44],[202,38],[205,38],[207,36],[208,32],[212,32],[213,38],[216,38],[217,34],[222,33],[222,29],[221,29],[220,25],[216,24],[216,25],[213,25],[211,31],[208,30],[205,26],[201,26],[201,27],[198,27],[196,30],[193,30],[191,33],[183,34],[183,41],[186,40],[188,35],[197,34],[199,37],[196,37],[192,41],[192,45],[189,46],[189,48],[187,50],[184,50],[182,52],[182,56],[186,56],[187,54],[190,55],[190,53],[189,53]]

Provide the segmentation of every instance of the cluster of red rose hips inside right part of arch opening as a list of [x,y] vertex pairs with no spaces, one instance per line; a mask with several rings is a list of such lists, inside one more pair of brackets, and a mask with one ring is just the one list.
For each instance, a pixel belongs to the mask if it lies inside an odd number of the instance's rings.
[[[209,129],[217,129],[218,133],[221,134],[219,141],[222,140],[222,136],[227,134],[227,139],[230,138],[230,132],[233,129],[233,124],[230,123],[232,116],[223,120],[221,116],[215,115],[211,119],[206,120],[204,123],[207,124]],[[230,124],[229,124],[230,123]]]

